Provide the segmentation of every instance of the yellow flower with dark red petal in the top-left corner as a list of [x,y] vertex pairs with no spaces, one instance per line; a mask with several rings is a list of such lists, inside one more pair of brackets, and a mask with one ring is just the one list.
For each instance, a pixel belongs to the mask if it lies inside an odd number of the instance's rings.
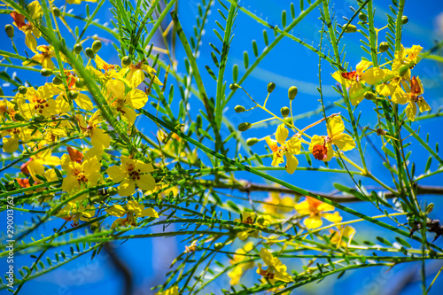
[[[37,21],[43,16],[42,6],[36,0],[27,5],[27,12],[31,18]],[[12,16],[12,19],[14,19],[13,24],[18,27],[20,31],[25,33],[25,44],[27,45],[27,48],[37,53],[35,50],[35,47],[37,47],[37,41],[35,38],[40,38],[40,30],[29,21],[25,22],[25,17],[18,12],[12,12],[10,15]]]

